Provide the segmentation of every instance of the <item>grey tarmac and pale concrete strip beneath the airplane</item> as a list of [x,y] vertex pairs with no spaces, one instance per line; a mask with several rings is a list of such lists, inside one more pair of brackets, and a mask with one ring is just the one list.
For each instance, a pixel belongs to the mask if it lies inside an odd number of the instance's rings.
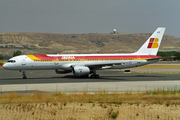
[[97,73],[100,75],[99,79],[56,74],[53,70],[32,70],[26,71],[28,79],[22,79],[21,72],[0,68],[0,92],[137,92],[180,88],[180,74],[133,74],[119,70],[101,70]]

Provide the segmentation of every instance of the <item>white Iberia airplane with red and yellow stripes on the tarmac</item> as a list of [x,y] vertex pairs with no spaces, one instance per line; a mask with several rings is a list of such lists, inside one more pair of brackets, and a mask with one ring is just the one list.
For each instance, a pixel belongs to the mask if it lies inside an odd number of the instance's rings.
[[3,68],[19,70],[26,79],[25,70],[55,70],[57,74],[72,72],[76,76],[99,78],[96,70],[124,69],[158,62],[156,56],[165,28],[159,27],[141,48],[130,54],[43,54],[20,55],[9,59]]

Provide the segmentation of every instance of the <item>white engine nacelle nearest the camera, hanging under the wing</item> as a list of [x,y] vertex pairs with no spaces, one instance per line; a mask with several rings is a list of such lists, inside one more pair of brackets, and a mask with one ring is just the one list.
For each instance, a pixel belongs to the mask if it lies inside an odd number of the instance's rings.
[[72,68],[74,75],[88,75],[90,73],[90,69],[84,66],[75,66]]

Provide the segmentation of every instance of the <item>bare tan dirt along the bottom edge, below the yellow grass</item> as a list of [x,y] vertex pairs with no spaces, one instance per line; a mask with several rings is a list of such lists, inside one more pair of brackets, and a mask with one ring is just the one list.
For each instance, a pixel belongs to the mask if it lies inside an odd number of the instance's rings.
[[[180,105],[110,103],[1,104],[1,120],[111,120],[180,119]],[[117,116],[113,117],[113,113]]]

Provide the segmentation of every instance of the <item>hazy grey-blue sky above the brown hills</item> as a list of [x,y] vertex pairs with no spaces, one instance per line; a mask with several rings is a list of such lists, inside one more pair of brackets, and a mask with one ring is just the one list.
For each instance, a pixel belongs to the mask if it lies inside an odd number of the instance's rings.
[[0,33],[153,33],[180,38],[180,0],[1,0]]

